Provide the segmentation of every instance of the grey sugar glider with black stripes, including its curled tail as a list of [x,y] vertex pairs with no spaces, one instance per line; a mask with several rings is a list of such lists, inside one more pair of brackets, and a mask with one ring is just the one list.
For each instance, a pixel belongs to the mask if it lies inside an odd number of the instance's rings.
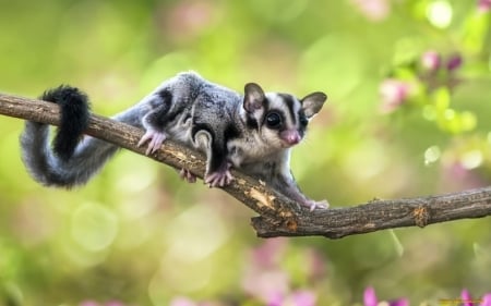
[[[80,89],[62,85],[45,91],[40,99],[60,106],[61,124],[51,148],[49,125],[26,121],[21,135],[24,164],[46,186],[70,188],[86,183],[119,147],[83,137],[89,106]],[[291,174],[290,151],[303,139],[309,121],[326,99],[320,91],[302,99],[264,93],[255,83],[246,84],[240,95],[185,72],[165,81],[112,119],[145,128],[139,146],[146,145],[147,155],[158,150],[166,139],[204,152],[204,183],[211,187],[229,184],[233,167],[313,210],[328,204],[302,194]],[[180,171],[180,176],[191,183],[196,181],[187,169]]]

